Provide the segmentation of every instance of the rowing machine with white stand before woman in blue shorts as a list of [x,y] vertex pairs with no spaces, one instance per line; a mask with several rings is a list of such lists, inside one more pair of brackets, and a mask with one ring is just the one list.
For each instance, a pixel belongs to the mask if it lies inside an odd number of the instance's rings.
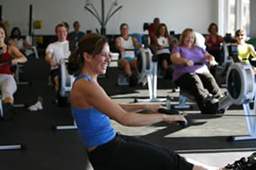
[[144,86],[147,82],[149,98],[136,98],[135,102],[162,102],[166,98],[156,98],[157,90],[157,60],[154,59],[148,47],[141,48],[137,54],[137,71],[139,72],[138,85]]

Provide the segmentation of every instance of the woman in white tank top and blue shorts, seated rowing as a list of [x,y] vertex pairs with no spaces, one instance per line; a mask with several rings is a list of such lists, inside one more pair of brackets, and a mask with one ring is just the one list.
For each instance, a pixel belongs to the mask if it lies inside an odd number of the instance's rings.
[[137,58],[134,51],[134,46],[141,48],[137,38],[132,38],[128,35],[128,24],[120,25],[120,37],[115,39],[115,47],[119,50],[119,66],[124,69],[125,75],[130,77],[132,70],[137,70]]

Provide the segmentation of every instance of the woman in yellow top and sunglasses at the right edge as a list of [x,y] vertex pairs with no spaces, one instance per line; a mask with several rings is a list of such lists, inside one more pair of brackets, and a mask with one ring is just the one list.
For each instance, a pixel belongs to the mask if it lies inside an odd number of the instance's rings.
[[[241,62],[250,64],[249,57],[252,55],[256,57],[256,52],[254,47],[251,44],[245,42],[246,33],[245,30],[236,30],[235,37],[237,40],[237,47],[238,47],[238,55]],[[256,68],[253,67],[253,71],[256,73]]]

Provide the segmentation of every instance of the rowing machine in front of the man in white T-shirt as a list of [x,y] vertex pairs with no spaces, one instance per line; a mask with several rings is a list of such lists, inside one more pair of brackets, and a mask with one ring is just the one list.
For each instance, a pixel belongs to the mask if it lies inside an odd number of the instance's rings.
[[[68,64],[67,58],[62,58],[60,60],[59,69],[60,69],[60,84],[59,84],[59,95],[61,97],[66,97],[69,95],[69,92],[72,89],[72,84],[75,81],[73,75],[68,74],[66,65]],[[77,129],[76,123],[72,125],[53,125],[52,130],[72,130]]]

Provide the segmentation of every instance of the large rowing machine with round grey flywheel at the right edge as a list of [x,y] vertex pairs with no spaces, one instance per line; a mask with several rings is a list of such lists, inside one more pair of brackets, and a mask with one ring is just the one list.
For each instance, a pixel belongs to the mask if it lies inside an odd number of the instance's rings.
[[[229,56],[234,60],[227,72],[227,92],[224,98],[218,103],[218,110],[226,109],[231,105],[243,105],[244,115],[246,117],[247,129],[250,136],[229,137],[227,140],[256,140],[256,85],[255,74],[251,64],[239,62],[238,48],[235,45],[228,47]],[[239,62],[239,63],[238,63]],[[183,93],[184,94],[184,93]],[[254,98],[254,109],[251,114],[249,103]]]

